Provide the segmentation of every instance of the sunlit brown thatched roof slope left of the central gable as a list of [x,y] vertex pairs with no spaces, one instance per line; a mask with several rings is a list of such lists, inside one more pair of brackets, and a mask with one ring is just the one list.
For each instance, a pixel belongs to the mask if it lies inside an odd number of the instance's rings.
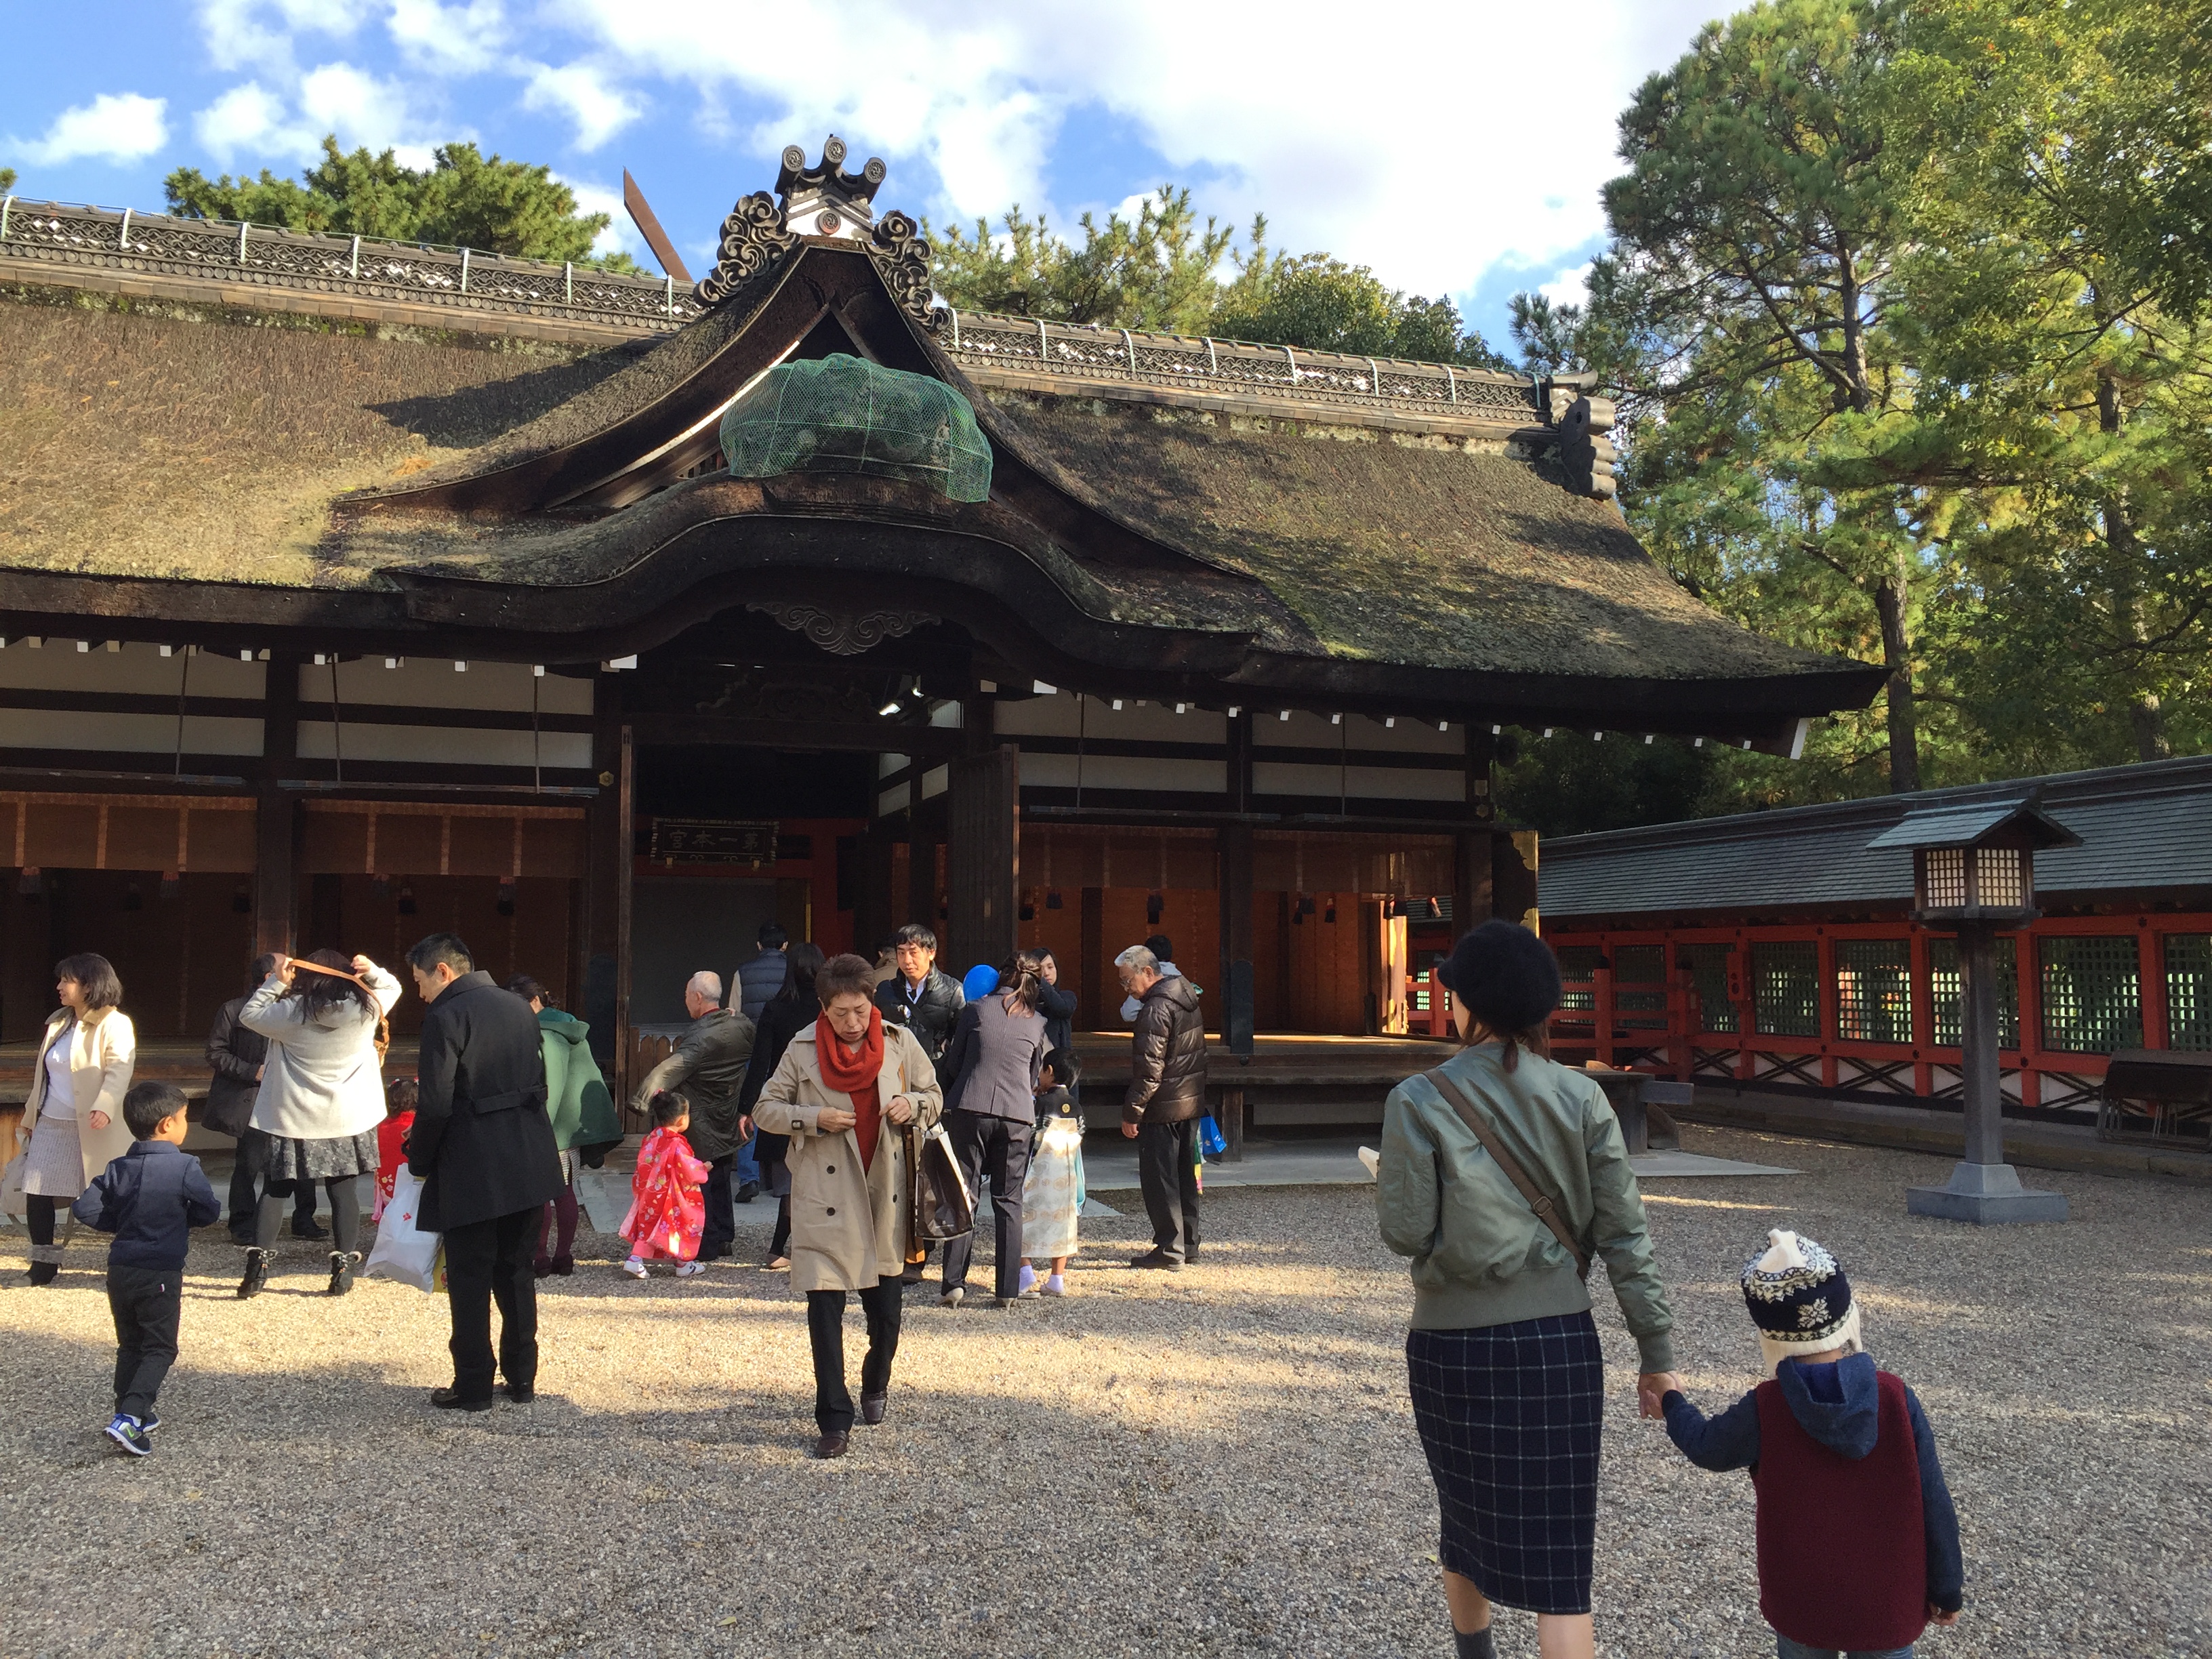
[[0,566],[358,586],[330,504],[571,403],[635,347],[0,290]]

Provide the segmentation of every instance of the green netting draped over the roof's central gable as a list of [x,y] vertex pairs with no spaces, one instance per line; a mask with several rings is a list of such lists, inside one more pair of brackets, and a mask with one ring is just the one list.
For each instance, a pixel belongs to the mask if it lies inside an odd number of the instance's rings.
[[956,502],[991,495],[991,445],[967,398],[843,352],[761,376],[723,414],[721,453],[732,478],[874,473]]

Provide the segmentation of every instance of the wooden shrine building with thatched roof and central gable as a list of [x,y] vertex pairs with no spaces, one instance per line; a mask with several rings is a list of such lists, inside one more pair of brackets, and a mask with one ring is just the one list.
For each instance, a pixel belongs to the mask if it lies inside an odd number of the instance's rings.
[[1409,927],[1535,909],[1506,723],[1876,695],[1650,560],[1586,380],[958,314],[843,164],[695,288],[0,206],[0,1044],[69,951],[197,1042],[453,929],[628,1057],[768,918],[1400,1033]]

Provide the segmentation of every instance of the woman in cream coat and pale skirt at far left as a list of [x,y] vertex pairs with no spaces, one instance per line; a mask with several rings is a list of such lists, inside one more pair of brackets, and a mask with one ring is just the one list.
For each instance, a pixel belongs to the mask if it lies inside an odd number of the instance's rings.
[[131,1150],[124,1095],[137,1062],[131,1015],[115,1004],[124,984],[104,956],[64,956],[53,964],[60,1009],[46,1018],[22,1108],[31,1146],[22,1159],[22,1203],[31,1223],[31,1283],[62,1272],[53,1212],[69,1208],[113,1159]]

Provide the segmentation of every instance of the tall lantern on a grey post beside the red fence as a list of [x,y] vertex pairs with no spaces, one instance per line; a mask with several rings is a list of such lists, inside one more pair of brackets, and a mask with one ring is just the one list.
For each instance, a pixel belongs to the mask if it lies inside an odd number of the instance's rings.
[[1916,1186],[1911,1214],[1949,1221],[2064,1221],[2066,1194],[2020,1186],[2004,1161],[2004,1097],[1997,1088],[1997,933],[2033,922],[2035,852],[2079,847],[2081,838],[2028,801],[1960,805],[1907,814],[1867,843],[1911,847],[1913,920],[1958,933],[1960,1086],[1966,1106],[1964,1157],[1942,1186]]

